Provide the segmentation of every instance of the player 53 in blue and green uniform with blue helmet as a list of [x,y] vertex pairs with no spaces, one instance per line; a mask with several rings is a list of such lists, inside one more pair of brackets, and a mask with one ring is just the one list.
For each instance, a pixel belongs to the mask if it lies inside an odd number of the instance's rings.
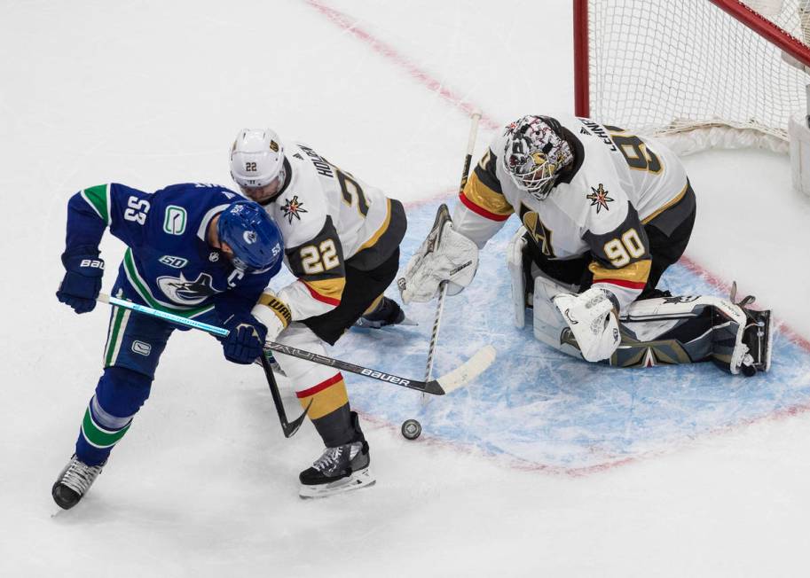
[[[250,311],[280,269],[275,223],[256,203],[224,187],[175,184],[154,193],[123,184],[77,192],[67,204],[66,273],[56,293],[76,313],[94,309],[104,261],[98,243],[109,228],[128,246],[116,297],[193,317],[230,331],[224,356],[253,363],[267,332]],[[104,373],[84,413],[75,455],[53,485],[68,509],[82,499],[115,444],[149,396],[154,371],[175,324],[113,308]]]

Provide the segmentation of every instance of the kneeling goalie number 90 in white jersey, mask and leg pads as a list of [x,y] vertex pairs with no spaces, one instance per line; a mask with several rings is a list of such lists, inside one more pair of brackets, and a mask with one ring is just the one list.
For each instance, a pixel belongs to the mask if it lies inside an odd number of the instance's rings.
[[[695,222],[695,193],[663,144],[586,118],[527,115],[492,140],[439,246],[426,243],[400,279],[403,300],[458,293],[478,250],[510,215],[515,324],[587,361],[621,367],[714,361],[753,375],[770,365],[770,312],[657,290]],[[431,231],[436,235],[437,231]]]

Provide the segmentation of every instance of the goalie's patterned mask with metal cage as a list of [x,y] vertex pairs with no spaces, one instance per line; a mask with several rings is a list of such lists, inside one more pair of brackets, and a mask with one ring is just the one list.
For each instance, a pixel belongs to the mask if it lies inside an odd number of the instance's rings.
[[557,176],[574,160],[570,144],[562,138],[560,123],[547,116],[524,116],[507,125],[503,164],[521,191],[546,199]]

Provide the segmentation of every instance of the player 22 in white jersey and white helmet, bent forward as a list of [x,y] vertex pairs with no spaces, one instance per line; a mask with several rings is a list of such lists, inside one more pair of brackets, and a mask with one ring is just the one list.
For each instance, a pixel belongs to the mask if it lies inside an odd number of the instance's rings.
[[[285,146],[271,129],[240,130],[231,175],[279,224],[285,262],[297,277],[278,294],[264,293],[252,312],[266,324],[267,340],[326,355],[326,346],[358,320],[371,327],[405,320],[397,302],[382,296],[397,276],[407,225],[398,200],[309,146]],[[288,355],[276,359],[326,445],[301,473],[301,495],[373,483],[368,443],[341,372]]]

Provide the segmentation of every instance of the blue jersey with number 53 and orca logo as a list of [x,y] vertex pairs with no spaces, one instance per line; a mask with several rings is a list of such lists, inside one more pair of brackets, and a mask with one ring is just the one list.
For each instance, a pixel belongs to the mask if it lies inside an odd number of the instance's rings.
[[[208,224],[241,196],[216,184],[173,184],[148,193],[111,183],[67,204],[66,254],[98,251],[104,230],[127,244],[119,269],[125,297],[195,317],[249,313],[281,267],[244,273],[208,245]],[[281,247],[279,247],[279,252]]]

